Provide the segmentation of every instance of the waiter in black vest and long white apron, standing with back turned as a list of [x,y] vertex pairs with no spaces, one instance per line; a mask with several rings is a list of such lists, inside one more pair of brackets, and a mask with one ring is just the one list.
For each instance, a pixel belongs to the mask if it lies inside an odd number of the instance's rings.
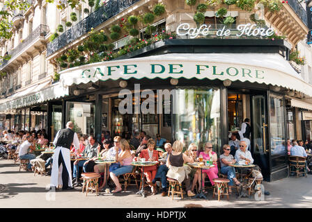
[[74,143],[75,148],[79,148],[79,139],[75,133],[74,123],[69,121],[66,128],[59,130],[54,139],[56,147],[53,155],[53,166],[51,173],[51,187],[63,185],[62,189],[72,189],[72,169],[70,167],[70,146]]

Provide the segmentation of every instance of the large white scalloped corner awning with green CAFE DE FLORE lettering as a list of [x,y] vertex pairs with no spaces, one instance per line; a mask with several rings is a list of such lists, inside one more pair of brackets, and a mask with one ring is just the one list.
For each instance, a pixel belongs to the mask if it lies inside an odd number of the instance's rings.
[[120,78],[208,78],[276,85],[312,96],[312,85],[277,53],[171,53],[97,62],[60,74],[66,86]]

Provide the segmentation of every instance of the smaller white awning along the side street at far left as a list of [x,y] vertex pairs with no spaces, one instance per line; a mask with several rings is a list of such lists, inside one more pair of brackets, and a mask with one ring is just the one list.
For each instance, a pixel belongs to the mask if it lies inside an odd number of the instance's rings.
[[0,112],[23,108],[63,96],[68,96],[68,87],[63,87],[61,83],[50,85],[50,82],[47,82],[40,85],[33,85],[28,89],[1,100]]

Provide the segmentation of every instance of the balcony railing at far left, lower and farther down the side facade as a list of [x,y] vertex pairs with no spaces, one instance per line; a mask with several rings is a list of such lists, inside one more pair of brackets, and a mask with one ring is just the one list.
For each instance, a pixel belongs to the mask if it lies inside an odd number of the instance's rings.
[[[8,52],[8,55],[11,56],[10,60],[12,60],[12,58],[14,58],[18,53],[20,53],[27,46],[29,46],[29,44],[31,44],[33,40],[36,40],[36,38],[40,36],[45,36],[47,35],[47,33],[49,33],[49,26],[45,26],[42,24],[39,25],[29,36],[26,37],[25,40],[23,40],[22,43],[18,44],[13,50]],[[10,60],[2,60],[0,69],[3,68],[6,64],[8,64],[8,61]]]

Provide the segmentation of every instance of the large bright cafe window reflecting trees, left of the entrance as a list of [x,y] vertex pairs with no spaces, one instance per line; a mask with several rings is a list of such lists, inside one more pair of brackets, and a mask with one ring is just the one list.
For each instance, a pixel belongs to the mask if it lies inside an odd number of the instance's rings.
[[214,151],[220,153],[219,89],[177,89],[174,107],[175,139],[180,139],[185,148],[196,143],[202,149],[205,142],[211,142]]

